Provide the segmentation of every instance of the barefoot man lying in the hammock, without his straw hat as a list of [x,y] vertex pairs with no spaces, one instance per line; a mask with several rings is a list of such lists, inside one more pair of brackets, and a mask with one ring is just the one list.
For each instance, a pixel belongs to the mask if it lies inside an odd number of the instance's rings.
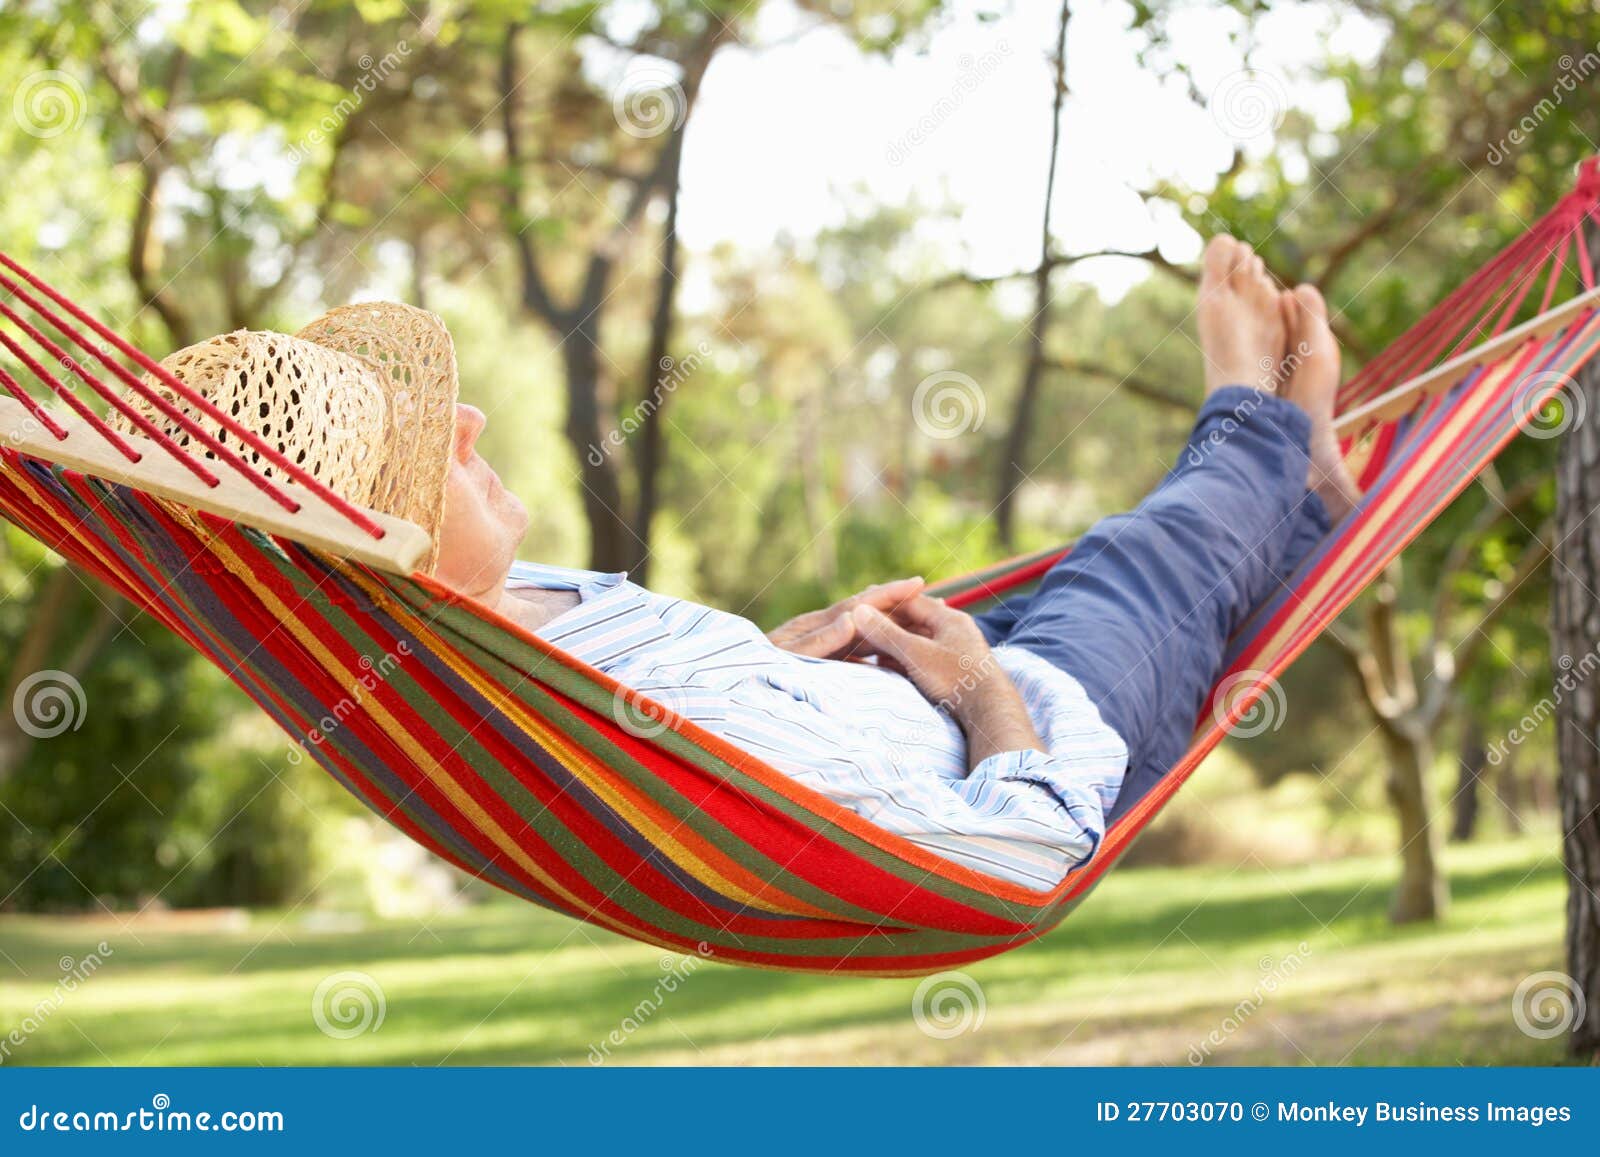
[[1219,237],[1197,309],[1206,398],[1179,466],[989,615],[910,578],[763,635],[624,574],[518,563],[528,517],[466,405],[435,576],[880,827],[1050,888],[1179,759],[1235,627],[1358,499],[1317,291],[1280,293]]

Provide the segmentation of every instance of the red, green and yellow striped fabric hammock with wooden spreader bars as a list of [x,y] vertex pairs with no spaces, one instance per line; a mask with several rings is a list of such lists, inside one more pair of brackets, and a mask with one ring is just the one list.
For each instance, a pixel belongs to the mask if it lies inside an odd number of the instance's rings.
[[[0,397],[0,512],[178,632],[357,799],[466,872],[680,952],[933,973],[1024,944],[1075,907],[1270,680],[1600,347],[1582,234],[1597,200],[1600,168],[1586,162],[1574,192],[1344,386],[1362,507],[1238,634],[1229,695],[1182,762],[1050,891],[878,831],[413,573],[427,550],[418,528],[342,502],[5,254],[0,344],[72,414],[0,368],[14,398]],[[219,421],[224,440],[141,373]],[[70,379],[141,434],[109,429]],[[211,456],[130,413],[123,389]],[[1062,554],[941,592],[955,605],[1019,592]]]

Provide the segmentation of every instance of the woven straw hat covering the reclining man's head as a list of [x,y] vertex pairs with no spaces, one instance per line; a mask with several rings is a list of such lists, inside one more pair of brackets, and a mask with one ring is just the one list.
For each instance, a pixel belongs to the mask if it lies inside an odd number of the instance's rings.
[[[341,306],[294,336],[237,330],[162,365],[341,498],[426,530],[434,568],[458,390],[456,349],[438,317],[397,302]],[[149,402],[128,400],[190,453],[216,458]],[[232,445],[219,422],[190,416]],[[134,432],[123,418],[117,424]],[[261,454],[248,459],[277,477]]]

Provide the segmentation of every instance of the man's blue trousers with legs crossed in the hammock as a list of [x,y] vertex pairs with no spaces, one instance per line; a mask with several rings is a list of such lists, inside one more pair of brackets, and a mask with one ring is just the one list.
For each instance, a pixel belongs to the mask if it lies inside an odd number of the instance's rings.
[[1224,386],[1182,459],[1130,514],[1102,518],[1029,595],[978,616],[1083,685],[1128,744],[1112,818],[1182,757],[1229,639],[1330,530],[1306,490],[1310,418]]

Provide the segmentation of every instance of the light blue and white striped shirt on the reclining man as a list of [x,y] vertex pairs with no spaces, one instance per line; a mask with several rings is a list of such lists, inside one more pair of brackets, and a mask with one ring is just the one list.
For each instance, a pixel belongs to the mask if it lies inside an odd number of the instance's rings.
[[626,574],[517,563],[507,589],[573,591],[539,637],[765,760],[882,829],[1032,888],[1094,855],[1128,749],[1064,671],[1014,647],[1011,677],[1048,755],[990,755],[909,679],[786,651],[749,619],[658,595]]

